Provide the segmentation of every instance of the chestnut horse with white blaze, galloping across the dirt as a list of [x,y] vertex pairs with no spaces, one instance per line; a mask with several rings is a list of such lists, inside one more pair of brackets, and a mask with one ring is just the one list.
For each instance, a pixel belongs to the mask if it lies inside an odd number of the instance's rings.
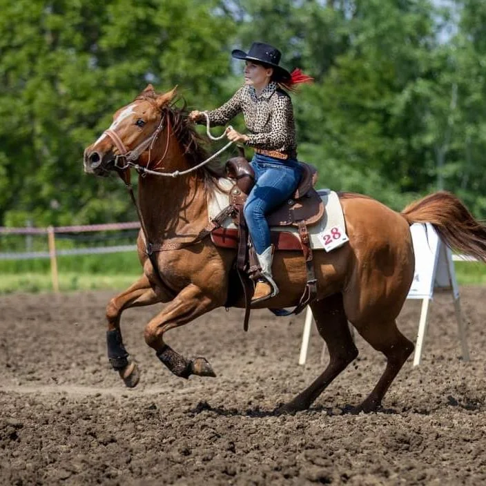
[[[144,328],[144,339],[176,376],[215,376],[203,357],[185,358],[166,344],[167,331],[225,305],[244,307],[241,284],[232,270],[235,250],[215,246],[208,237],[207,197],[218,175],[201,164],[204,137],[179,107],[175,88],[156,93],[148,85],[113,115],[113,123],[84,151],[84,171],[106,177],[117,173],[130,188],[130,168],[139,173],[133,201],[142,229],[137,238],[142,276],[106,307],[108,358],[127,387],[139,369],[122,340],[120,319],[130,307],[166,303]],[[158,176],[171,177],[158,177]],[[412,202],[400,213],[365,195],[339,193],[349,242],[329,253],[314,251],[317,295],[310,307],[329,349],[322,374],[279,413],[309,409],[324,389],[357,356],[350,322],[387,364],[376,386],[354,409],[376,411],[414,344],[398,330],[396,318],[414,276],[409,226],[429,222],[451,248],[486,262],[486,226],[458,197],[438,191]],[[280,293],[255,308],[295,306],[306,284],[302,252],[276,251],[273,261]]]

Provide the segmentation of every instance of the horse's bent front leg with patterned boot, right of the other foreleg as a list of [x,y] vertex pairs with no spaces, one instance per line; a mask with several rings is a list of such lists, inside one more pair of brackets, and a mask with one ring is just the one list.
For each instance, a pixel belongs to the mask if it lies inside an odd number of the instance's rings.
[[214,296],[204,293],[195,284],[189,284],[146,325],[144,333],[146,343],[155,349],[157,358],[175,376],[181,378],[188,378],[191,375],[216,376],[206,358],[198,357],[189,360],[184,358],[164,342],[164,333],[191,322],[219,305],[220,302]]

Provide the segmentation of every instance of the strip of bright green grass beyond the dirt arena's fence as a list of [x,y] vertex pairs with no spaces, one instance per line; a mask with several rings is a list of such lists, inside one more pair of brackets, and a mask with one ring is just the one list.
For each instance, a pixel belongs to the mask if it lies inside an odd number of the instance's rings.
[[[486,284],[486,265],[455,262],[459,285]],[[135,252],[58,257],[61,291],[123,290],[142,275]],[[0,293],[52,291],[49,260],[0,261]]]

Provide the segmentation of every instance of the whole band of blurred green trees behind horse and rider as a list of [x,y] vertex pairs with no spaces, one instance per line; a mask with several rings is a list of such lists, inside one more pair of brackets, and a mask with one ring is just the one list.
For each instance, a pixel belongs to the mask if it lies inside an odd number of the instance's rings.
[[[401,209],[447,189],[486,216],[483,0],[0,0],[0,225],[135,220],[82,153],[148,82],[191,108],[267,41],[315,77],[293,95],[320,186]],[[242,128],[242,122],[235,125]]]

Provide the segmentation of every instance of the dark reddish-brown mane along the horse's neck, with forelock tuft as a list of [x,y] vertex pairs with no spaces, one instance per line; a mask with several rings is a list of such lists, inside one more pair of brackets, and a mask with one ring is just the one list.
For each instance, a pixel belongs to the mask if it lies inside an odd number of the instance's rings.
[[[157,93],[152,90],[144,92],[143,95],[139,95],[135,98],[135,101],[138,99],[154,101],[157,96]],[[176,106],[179,101],[182,101],[183,103],[181,107]],[[188,110],[184,98],[178,97],[173,100],[170,105],[164,106],[164,108],[162,108],[162,113],[168,114],[173,133],[184,149],[184,155],[189,159],[191,165],[195,166],[200,164],[200,162],[209,157],[208,151],[204,146],[207,142],[206,139],[197,133],[192,123],[188,122]],[[216,187],[219,187],[217,179],[222,177],[220,167],[220,162],[216,161],[210,162],[196,171],[197,175],[199,175],[204,182],[204,186],[206,186],[206,189],[209,191],[213,191]]]

